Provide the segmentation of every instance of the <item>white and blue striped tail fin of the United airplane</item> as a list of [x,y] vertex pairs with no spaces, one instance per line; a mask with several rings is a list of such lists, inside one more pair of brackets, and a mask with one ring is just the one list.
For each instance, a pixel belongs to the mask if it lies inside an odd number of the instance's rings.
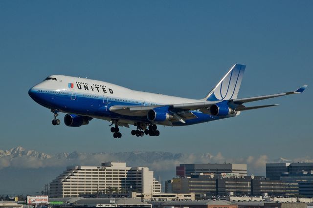
[[237,98],[245,68],[246,65],[236,63],[203,100],[221,101]]

